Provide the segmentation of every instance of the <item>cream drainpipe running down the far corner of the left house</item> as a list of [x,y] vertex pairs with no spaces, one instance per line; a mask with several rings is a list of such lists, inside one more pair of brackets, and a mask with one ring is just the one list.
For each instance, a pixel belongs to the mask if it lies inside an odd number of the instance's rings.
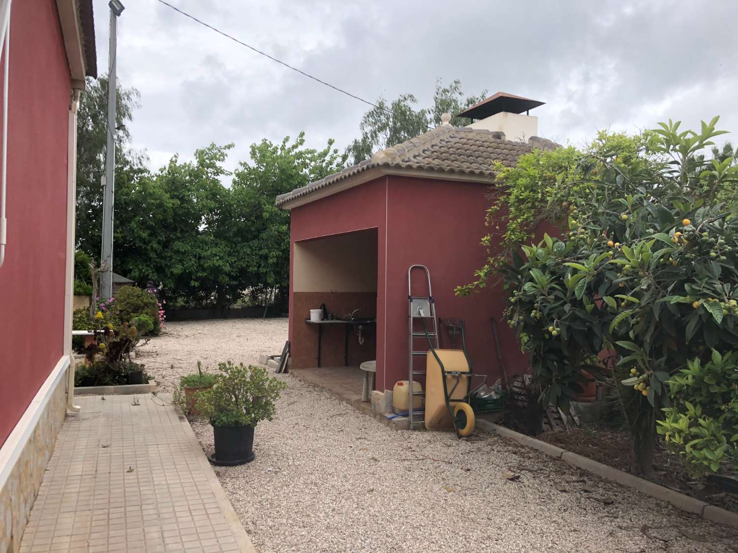
[[77,108],[80,89],[72,89],[69,106],[69,135],[67,136],[66,170],[66,288],[64,291],[64,355],[69,355],[66,381],[66,408],[75,413],[75,353],[72,351],[72,313],[75,291],[75,212],[77,201]]

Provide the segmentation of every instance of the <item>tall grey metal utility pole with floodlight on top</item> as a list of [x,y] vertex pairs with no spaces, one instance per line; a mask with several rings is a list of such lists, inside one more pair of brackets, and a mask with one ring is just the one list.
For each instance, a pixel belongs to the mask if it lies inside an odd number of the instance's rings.
[[117,102],[115,58],[118,34],[118,17],[125,7],[120,0],[111,0],[110,47],[108,49],[108,145],[105,152],[105,184],[103,186],[103,251],[100,266],[108,270],[100,275],[100,297],[113,295],[113,213],[115,205],[115,108]]

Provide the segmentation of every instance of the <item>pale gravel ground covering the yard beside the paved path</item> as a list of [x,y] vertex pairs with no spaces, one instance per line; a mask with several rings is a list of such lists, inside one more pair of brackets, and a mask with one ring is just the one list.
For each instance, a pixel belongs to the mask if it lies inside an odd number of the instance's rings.
[[[198,359],[213,366],[277,354],[286,334],[284,319],[173,323],[141,357],[166,386]],[[735,529],[515,442],[393,431],[327,392],[277,377],[289,389],[277,418],[258,425],[255,461],[216,470],[261,552],[738,551]],[[192,425],[212,452],[210,425]],[[596,501],[604,498],[613,503]]]

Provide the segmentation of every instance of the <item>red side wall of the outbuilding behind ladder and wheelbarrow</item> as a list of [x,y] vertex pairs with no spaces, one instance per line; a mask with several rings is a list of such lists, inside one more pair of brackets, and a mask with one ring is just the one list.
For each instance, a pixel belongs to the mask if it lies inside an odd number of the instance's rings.
[[[387,329],[384,343],[384,388],[396,380],[407,380],[407,269],[426,265],[430,270],[436,315],[463,319],[466,349],[474,372],[502,378],[497,361],[492,322],[503,346],[508,376],[525,372],[526,356],[508,325],[502,322],[501,288],[485,288],[472,296],[459,297],[458,285],[471,282],[474,271],[486,259],[480,239],[489,232],[485,225],[489,184],[472,184],[421,178],[390,177],[387,197]],[[423,283],[423,271],[414,273],[413,283]],[[425,286],[413,295],[426,295]],[[441,327],[441,347],[451,347]],[[427,349],[425,338],[416,338],[418,349]],[[461,347],[461,344],[458,344]],[[379,383],[378,383],[379,388]]]

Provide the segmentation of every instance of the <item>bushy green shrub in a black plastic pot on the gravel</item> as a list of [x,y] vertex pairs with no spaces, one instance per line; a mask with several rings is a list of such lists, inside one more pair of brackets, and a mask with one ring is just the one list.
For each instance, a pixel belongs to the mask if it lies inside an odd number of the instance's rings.
[[213,425],[213,465],[243,465],[254,460],[254,429],[260,420],[272,420],[275,401],[287,387],[269,377],[266,369],[218,364],[213,387],[197,392],[196,406]]

